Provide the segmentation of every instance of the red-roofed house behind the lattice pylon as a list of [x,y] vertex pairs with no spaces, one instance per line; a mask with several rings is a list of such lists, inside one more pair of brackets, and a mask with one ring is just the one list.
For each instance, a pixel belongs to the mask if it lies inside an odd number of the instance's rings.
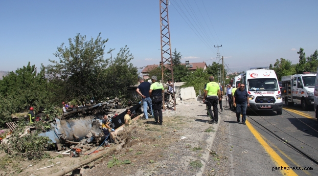
[[[189,63],[189,61],[185,61],[185,63],[181,63],[181,65],[185,65],[191,71],[195,71],[197,68],[203,68],[203,70],[205,70],[206,67],[207,67],[205,62],[202,62],[202,63]],[[168,67],[167,64],[165,64],[164,66]],[[154,68],[157,68],[157,67],[159,67],[159,64],[145,66],[143,68],[143,70],[141,71],[143,79],[149,79],[148,73],[151,70],[153,70]]]

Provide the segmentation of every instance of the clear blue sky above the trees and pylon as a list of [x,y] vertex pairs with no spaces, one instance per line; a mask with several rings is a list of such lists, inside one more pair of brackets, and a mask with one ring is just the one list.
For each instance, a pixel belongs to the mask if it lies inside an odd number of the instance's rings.
[[[280,58],[296,64],[300,47],[306,56],[318,49],[317,6],[318,0],[170,0],[171,45],[182,62],[210,65],[214,45],[222,44],[220,55],[233,71]],[[109,39],[105,58],[110,48],[128,45],[135,66],[158,64],[159,24],[159,0],[1,0],[0,70],[48,65],[68,38],[99,32]]]

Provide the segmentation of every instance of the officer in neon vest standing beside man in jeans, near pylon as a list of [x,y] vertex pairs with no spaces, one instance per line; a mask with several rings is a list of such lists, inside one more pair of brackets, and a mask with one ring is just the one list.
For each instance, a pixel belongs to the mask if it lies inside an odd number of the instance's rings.
[[[162,125],[162,92],[164,92],[162,84],[157,82],[157,76],[151,77],[152,85],[150,86],[149,95],[152,99],[152,109],[154,110],[155,123]],[[158,119],[159,115],[159,119]]]

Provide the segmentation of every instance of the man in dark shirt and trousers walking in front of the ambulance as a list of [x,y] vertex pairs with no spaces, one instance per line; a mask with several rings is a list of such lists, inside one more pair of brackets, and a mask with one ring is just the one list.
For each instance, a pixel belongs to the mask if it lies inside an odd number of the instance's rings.
[[240,114],[242,112],[242,123],[245,125],[246,109],[250,106],[249,94],[244,84],[240,85],[240,88],[236,89],[233,96],[233,106],[236,107],[237,122],[240,122]]

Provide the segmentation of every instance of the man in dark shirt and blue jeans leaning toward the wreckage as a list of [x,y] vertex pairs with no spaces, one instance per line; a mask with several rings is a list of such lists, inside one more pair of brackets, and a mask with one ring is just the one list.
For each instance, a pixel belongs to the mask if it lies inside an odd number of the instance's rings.
[[136,89],[136,92],[142,97],[141,101],[143,104],[143,113],[145,114],[145,119],[148,119],[147,105],[151,111],[151,115],[154,116],[152,112],[151,99],[149,97],[149,90],[151,84],[148,82],[144,82],[143,79],[139,79],[139,83],[140,85]]

